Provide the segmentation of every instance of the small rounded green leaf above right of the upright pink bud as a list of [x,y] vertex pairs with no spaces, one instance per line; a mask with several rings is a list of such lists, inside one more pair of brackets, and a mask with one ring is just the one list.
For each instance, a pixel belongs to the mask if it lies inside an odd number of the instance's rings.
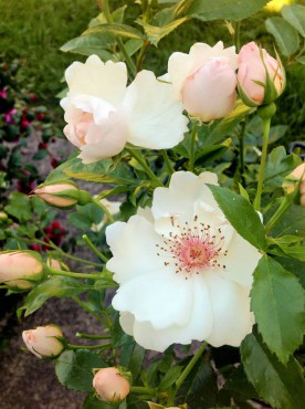
[[265,21],[267,31],[275,38],[282,54],[290,56],[299,46],[297,31],[281,17],[271,17]]

